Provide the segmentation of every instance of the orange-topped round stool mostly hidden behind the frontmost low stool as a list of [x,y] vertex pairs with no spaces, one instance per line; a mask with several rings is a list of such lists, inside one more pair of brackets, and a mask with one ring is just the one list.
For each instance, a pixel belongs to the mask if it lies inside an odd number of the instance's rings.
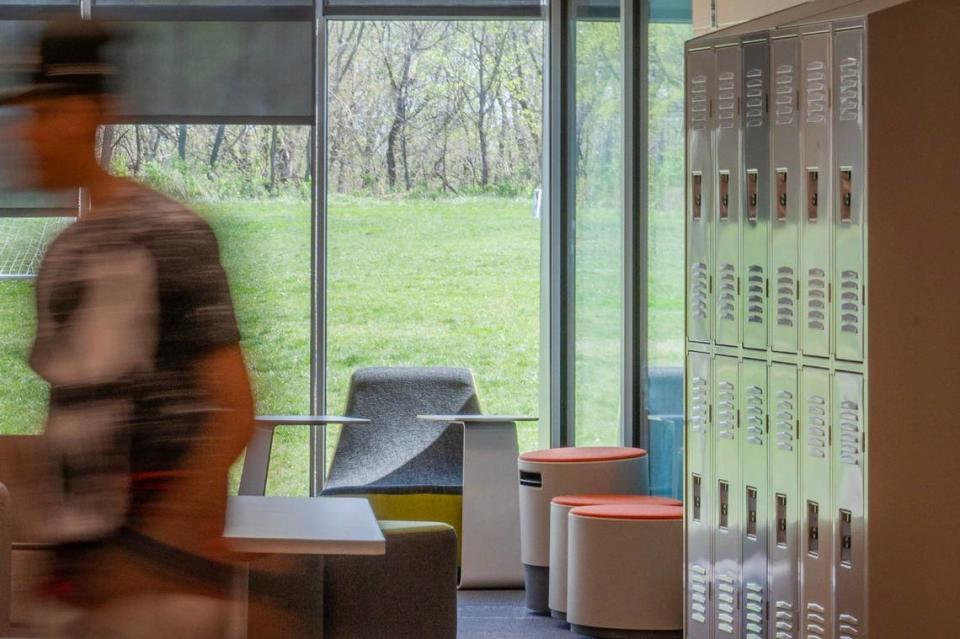
[[683,506],[671,497],[652,495],[563,495],[550,503],[550,614],[567,618],[567,521],[570,511],[582,506],[608,504],[656,504]]

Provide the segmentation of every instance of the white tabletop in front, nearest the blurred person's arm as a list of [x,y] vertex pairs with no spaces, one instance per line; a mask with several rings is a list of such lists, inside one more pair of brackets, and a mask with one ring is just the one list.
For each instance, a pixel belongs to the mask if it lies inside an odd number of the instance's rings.
[[366,499],[233,496],[224,536],[236,552],[382,555],[383,533]]

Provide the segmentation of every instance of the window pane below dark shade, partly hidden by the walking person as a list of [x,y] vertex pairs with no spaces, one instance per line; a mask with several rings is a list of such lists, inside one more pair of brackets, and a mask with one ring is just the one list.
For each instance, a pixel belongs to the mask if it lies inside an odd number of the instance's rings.
[[[101,163],[187,203],[212,226],[261,415],[310,409],[311,127],[116,125]],[[267,490],[306,495],[308,429],[276,432]]]

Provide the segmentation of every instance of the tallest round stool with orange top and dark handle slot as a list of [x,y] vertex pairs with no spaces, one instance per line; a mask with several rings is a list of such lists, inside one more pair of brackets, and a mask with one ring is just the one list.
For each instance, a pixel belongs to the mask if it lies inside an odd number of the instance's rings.
[[647,452],[640,448],[550,448],[520,455],[520,556],[527,607],[547,614],[550,501],[576,493],[648,492]]

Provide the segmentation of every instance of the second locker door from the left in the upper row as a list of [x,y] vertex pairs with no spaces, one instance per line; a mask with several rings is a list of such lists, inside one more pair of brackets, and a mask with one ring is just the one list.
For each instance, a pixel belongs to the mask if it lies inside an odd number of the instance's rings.
[[714,318],[718,344],[740,344],[740,46],[716,50],[714,122],[717,141],[717,215]]

